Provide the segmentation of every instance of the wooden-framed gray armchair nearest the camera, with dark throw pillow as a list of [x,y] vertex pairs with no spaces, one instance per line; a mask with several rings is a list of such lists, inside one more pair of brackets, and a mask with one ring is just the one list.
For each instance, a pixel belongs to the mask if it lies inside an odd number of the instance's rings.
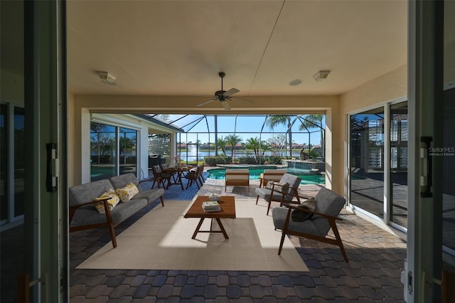
[[[282,230],[282,239],[281,243],[279,243],[278,255],[282,252],[284,237],[286,235],[296,235],[303,238],[318,240],[323,243],[337,245],[343,254],[344,260],[348,262],[348,256],[346,255],[340,233],[338,233],[338,228],[335,223],[336,220],[341,220],[340,218],[337,218],[337,216],[341,212],[346,200],[327,188],[321,188],[314,198],[316,200],[316,208],[314,211],[296,208],[295,206],[286,204],[284,205],[287,207],[273,209],[272,217],[275,230]],[[303,222],[294,222],[291,219],[292,211],[313,213],[313,216]],[[335,238],[327,237],[330,229],[333,230]]]

